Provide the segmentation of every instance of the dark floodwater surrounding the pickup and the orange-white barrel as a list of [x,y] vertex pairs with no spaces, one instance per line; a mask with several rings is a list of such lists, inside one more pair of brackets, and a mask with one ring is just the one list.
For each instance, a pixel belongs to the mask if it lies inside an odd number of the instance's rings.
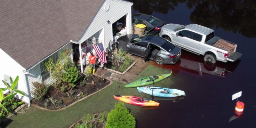
[[[182,51],[174,65],[159,66],[172,71],[172,88],[185,97],[156,99],[159,107],[142,109],[135,115],[138,128],[240,128],[256,127],[256,2],[244,0],[130,0],[132,13],[147,13],[168,23],[196,23],[215,30],[215,36],[237,44],[242,57],[236,62],[206,65],[203,56]],[[169,4],[168,4],[169,3]],[[152,63],[152,65],[156,65]],[[157,66],[157,65],[156,65]],[[235,116],[236,100],[242,91],[242,117]],[[156,97],[155,97],[156,98]]]

